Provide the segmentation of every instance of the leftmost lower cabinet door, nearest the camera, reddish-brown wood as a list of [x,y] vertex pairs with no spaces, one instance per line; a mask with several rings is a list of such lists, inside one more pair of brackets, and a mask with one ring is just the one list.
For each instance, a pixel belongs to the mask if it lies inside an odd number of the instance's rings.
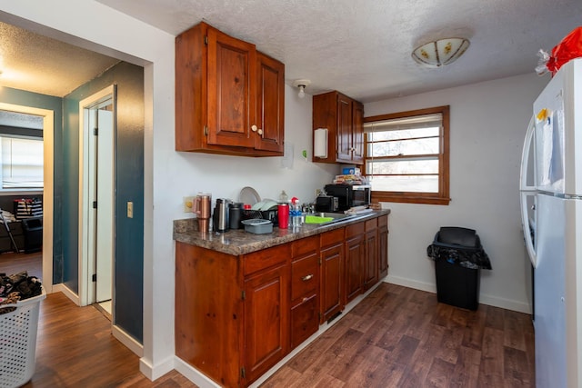
[[245,281],[246,383],[256,380],[289,352],[287,264]]

